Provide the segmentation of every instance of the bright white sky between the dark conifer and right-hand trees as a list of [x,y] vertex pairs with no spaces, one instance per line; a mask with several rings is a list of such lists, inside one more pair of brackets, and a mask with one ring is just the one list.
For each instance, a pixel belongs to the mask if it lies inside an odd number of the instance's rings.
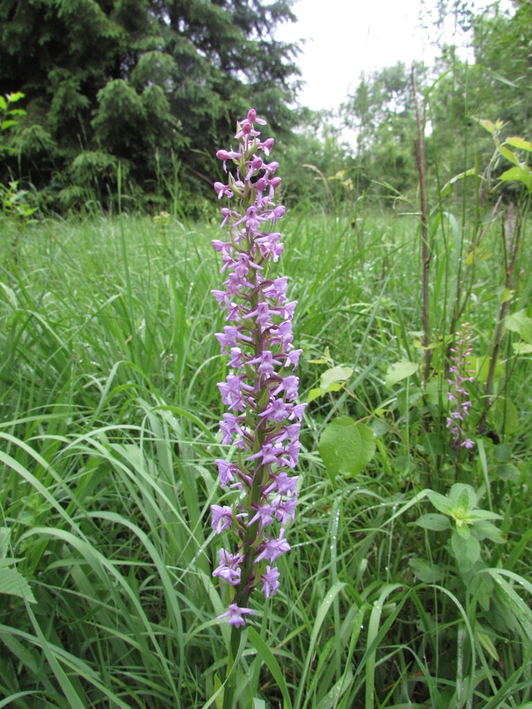
[[[436,0],[426,0],[426,5]],[[487,0],[477,0],[478,9]],[[275,38],[286,42],[306,39],[297,62],[306,82],[299,103],[314,110],[338,108],[350,86],[354,89],[362,71],[389,67],[412,60],[430,65],[436,50],[428,30],[421,28],[421,0],[297,0],[293,7],[298,23],[285,23]],[[453,25],[445,33],[453,40]],[[435,30],[431,29],[431,38]]]

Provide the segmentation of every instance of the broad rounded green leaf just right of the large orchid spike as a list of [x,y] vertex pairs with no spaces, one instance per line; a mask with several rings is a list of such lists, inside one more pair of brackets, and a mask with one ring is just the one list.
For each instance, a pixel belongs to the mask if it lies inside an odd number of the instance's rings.
[[375,436],[363,423],[338,416],[323,430],[319,453],[334,482],[339,472],[357,475],[375,455]]

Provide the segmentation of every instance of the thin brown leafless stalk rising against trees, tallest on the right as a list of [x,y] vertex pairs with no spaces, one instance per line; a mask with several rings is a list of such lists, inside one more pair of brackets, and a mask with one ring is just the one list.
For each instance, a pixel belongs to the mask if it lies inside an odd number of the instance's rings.
[[416,108],[416,121],[418,128],[418,138],[414,140],[416,148],[416,163],[419,174],[419,201],[421,206],[421,261],[423,263],[423,309],[421,311],[421,320],[423,323],[423,351],[425,353],[425,367],[423,369],[423,379],[428,380],[431,375],[431,359],[432,350],[429,349],[431,344],[431,318],[428,311],[428,277],[431,267],[431,253],[428,249],[428,218],[426,206],[426,190],[425,190],[425,147],[423,138],[423,120],[419,113],[418,96],[416,89],[416,78],[414,77],[414,67],[411,73],[412,91],[414,93],[414,106]]

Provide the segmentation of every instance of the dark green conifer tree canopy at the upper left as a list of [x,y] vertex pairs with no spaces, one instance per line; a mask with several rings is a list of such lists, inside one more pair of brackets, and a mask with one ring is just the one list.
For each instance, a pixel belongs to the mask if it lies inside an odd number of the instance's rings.
[[113,189],[118,161],[138,195],[157,199],[178,163],[208,189],[250,104],[274,134],[294,122],[297,48],[272,39],[291,4],[0,0],[0,93],[23,91],[28,111],[11,171],[63,206]]

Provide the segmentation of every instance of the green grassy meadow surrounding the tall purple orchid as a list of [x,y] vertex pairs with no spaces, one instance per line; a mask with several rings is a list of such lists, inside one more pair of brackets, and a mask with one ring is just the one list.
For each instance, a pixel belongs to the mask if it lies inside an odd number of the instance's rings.
[[[431,219],[428,376],[419,218],[399,211],[279,224],[311,401],[242,709],[532,706],[526,210]],[[0,707],[221,708],[219,234],[217,216],[48,220],[15,258],[4,232]],[[446,424],[464,323],[470,448]],[[323,447],[339,417],[372,432],[356,464]]]

